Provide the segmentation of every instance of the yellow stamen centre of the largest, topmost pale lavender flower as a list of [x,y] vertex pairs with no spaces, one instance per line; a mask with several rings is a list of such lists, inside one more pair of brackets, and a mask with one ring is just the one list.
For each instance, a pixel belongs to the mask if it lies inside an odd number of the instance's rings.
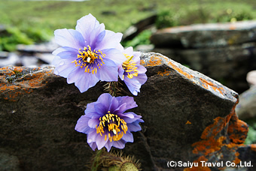
[[84,47],[84,49],[78,50],[78,58],[75,59],[72,63],[75,63],[76,67],[84,68],[84,72],[86,73],[97,73],[97,68],[100,69],[105,57],[105,54],[100,50],[92,50],[90,46]]

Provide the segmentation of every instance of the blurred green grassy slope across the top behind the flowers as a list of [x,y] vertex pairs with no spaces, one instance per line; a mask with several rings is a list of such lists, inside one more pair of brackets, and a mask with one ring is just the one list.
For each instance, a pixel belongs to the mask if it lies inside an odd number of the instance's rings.
[[[17,43],[49,40],[55,29],[75,28],[76,21],[88,13],[104,23],[107,29],[123,32],[133,23],[155,13],[158,14],[157,28],[164,28],[256,19],[255,7],[253,0],[0,0],[0,24],[8,26],[8,34],[0,33],[0,50],[12,51]],[[145,39],[148,39],[148,32],[126,44],[148,43]]]

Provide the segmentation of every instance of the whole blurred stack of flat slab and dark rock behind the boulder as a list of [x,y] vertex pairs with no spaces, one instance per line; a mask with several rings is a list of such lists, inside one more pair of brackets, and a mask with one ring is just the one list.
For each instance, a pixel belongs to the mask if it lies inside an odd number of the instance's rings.
[[249,88],[246,74],[256,69],[255,33],[256,20],[164,28],[151,36],[152,51],[240,94]]

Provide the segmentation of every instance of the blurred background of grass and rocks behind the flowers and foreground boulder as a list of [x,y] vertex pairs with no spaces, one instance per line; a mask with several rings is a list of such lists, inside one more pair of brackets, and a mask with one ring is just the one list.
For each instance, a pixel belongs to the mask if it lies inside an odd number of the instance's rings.
[[[248,92],[256,84],[255,9],[254,0],[0,0],[0,67],[50,65],[53,31],[75,29],[92,13],[123,33],[123,46],[160,52],[238,92],[237,113],[250,125],[245,143],[256,143],[256,90]],[[166,33],[169,43],[160,43]]]

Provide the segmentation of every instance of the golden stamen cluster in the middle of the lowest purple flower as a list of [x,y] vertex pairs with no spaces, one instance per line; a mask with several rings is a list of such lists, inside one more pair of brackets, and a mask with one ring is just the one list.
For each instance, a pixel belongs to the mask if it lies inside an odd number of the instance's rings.
[[112,140],[120,140],[123,137],[123,133],[126,133],[128,130],[128,127],[123,119],[108,111],[107,114],[99,118],[99,125],[96,125],[96,130],[101,136],[105,131],[108,132],[105,133],[105,140],[108,137],[110,142],[112,142]]

